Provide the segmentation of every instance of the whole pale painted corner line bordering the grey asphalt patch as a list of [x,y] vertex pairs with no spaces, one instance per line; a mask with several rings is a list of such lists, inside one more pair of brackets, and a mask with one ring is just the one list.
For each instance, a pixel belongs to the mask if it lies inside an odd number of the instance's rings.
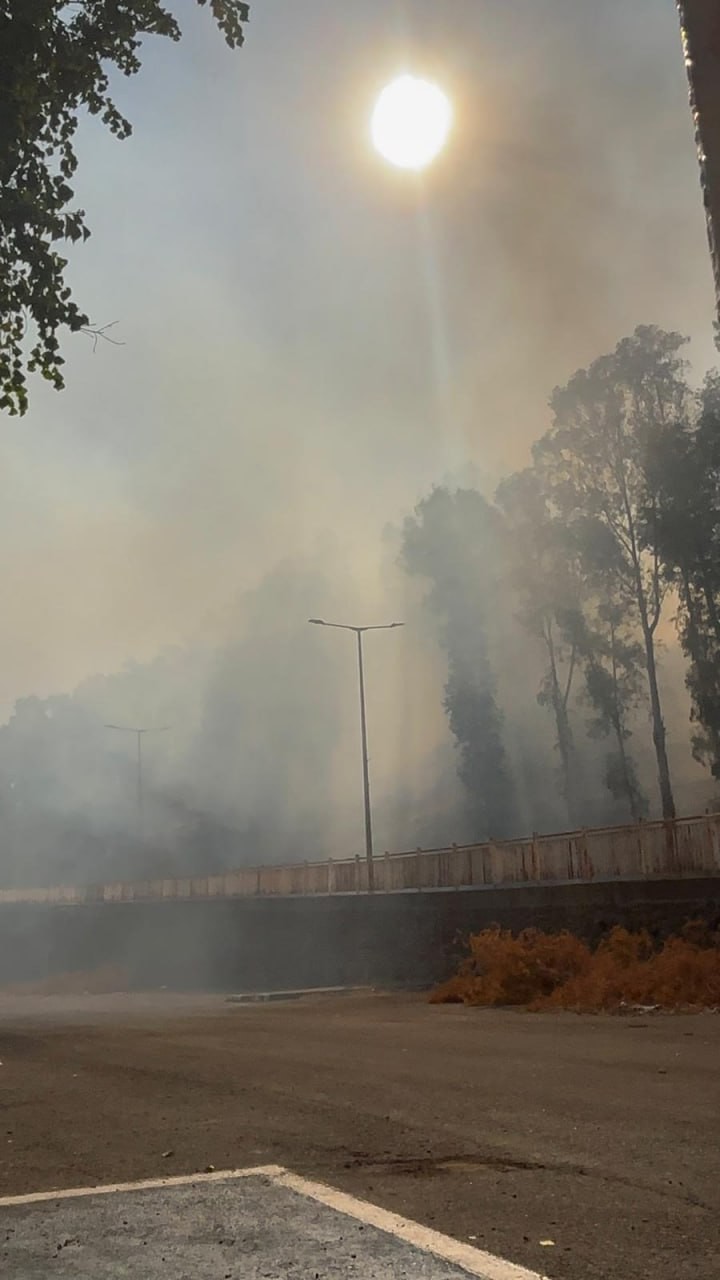
[[525,1267],[507,1262],[493,1253],[487,1253],[474,1245],[443,1235],[441,1231],[421,1226],[419,1222],[401,1217],[398,1213],[392,1213],[368,1201],[357,1199],[347,1192],[301,1178],[283,1169],[281,1165],[259,1165],[249,1169],[222,1170],[209,1174],[187,1174],[135,1183],[113,1183],[100,1187],[77,1187],[54,1192],[35,1192],[26,1196],[9,1196],[0,1198],[0,1210],[20,1208],[22,1206],[49,1202],[58,1203],[61,1201],[82,1202],[90,1197],[127,1196],[135,1192],[172,1192],[174,1188],[184,1188],[186,1190],[197,1188],[199,1192],[206,1188],[209,1193],[214,1192],[217,1194],[223,1189],[232,1189],[233,1181],[250,1181],[255,1179],[264,1183],[265,1187],[277,1188],[281,1193],[292,1193],[301,1201],[314,1202],[341,1220],[351,1219],[359,1222],[361,1228],[369,1228],[372,1231],[389,1236],[398,1242],[400,1245],[409,1247],[415,1254],[447,1263],[457,1268],[454,1272],[455,1275],[461,1272],[482,1277],[482,1280],[546,1280],[546,1277],[536,1271],[528,1271]]

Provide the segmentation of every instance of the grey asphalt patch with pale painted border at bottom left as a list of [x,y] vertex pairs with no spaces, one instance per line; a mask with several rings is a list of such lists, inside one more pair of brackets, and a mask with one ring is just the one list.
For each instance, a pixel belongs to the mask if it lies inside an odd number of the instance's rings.
[[282,1169],[32,1203],[0,1199],[3,1276],[538,1280],[395,1215],[368,1220],[363,1202],[342,1199]]

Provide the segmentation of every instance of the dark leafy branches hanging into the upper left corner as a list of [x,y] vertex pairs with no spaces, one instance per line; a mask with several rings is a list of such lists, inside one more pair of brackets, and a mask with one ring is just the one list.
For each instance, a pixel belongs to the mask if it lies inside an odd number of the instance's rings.
[[[231,49],[242,45],[249,4],[197,4]],[[0,0],[0,408],[10,413],[27,410],[29,372],[64,387],[63,329],[101,332],[73,300],[60,250],[90,236],[73,206],[74,137],[83,110],[129,136],[110,74],[140,70],[146,36],[181,38],[160,0]]]

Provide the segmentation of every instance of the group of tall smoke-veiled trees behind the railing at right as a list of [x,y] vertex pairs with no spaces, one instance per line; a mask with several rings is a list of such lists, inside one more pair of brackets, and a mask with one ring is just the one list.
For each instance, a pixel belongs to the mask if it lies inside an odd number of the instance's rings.
[[578,699],[606,744],[605,786],[634,819],[647,810],[634,749],[647,707],[661,812],[675,814],[659,682],[670,614],[687,659],[692,751],[720,778],[720,375],[693,389],[685,340],[639,326],[556,388],[530,466],[495,500],[437,488],[405,522],[401,561],[430,584],[459,772],[486,833],[514,823],[498,618],[503,636],[521,628],[542,655],[537,698],[570,824],[584,820]]

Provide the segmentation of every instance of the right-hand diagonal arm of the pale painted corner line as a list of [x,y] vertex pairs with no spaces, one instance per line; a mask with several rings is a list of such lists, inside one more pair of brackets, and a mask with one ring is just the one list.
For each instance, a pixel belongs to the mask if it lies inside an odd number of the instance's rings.
[[323,1183],[313,1183],[286,1171],[272,1174],[270,1181],[275,1187],[287,1187],[319,1204],[327,1204],[337,1213],[354,1217],[365,1226],[374,1226],[378,1231],[395,1235],[396,1239],[411,1244],[423,1253],[430,1253],[436,1258],[442,1258],[443,1262],[461,1267],[471,1276],[482,1276],[482,1280],[547,1280],[537,1271],[528,1271],[525,1267],[516,1266],[515,1262],[506,1262],[503,1258],[496,1257],[495,1253],[475,1249],[471,1244],[454,1240],[450,1235],[433,1231],[429,1226],[420,1226],[419,1222],[378,1208],[377,1204],[370,1204],[368,1201],[356,1199],[355,1196],[338,1192]]

